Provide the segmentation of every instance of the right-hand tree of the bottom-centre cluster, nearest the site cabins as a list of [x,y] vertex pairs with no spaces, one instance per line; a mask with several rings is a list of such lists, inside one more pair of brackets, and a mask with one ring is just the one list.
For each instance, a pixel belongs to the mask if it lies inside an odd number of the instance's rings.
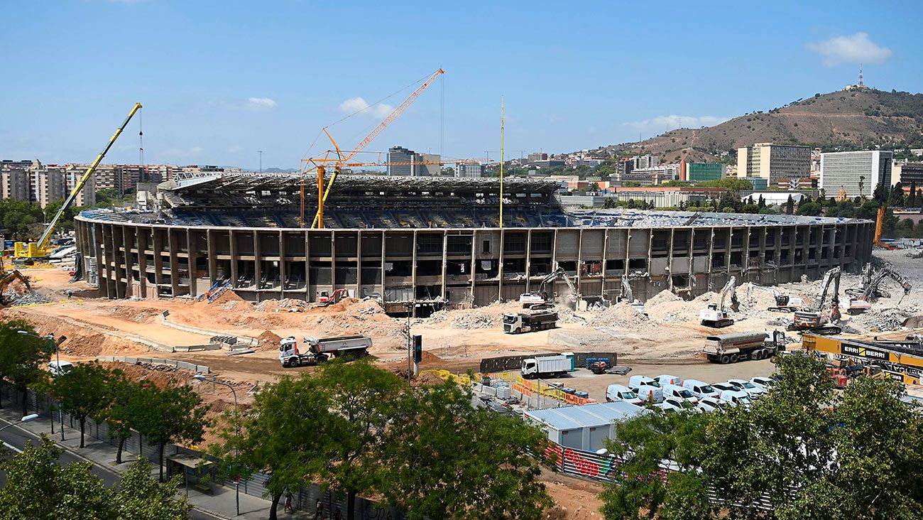
[[551,505],[528,454],[545,452],[541,430],[474,408],[452,382],[405,393],[397,407],[379,489],[409,519],[537,520]]

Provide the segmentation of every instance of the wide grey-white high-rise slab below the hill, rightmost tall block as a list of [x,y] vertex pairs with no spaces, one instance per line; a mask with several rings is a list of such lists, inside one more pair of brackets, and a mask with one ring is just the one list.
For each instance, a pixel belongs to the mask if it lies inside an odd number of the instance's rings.
[[820,187],[830,196],[843,188],[847,197],[871,197],[879,184],[891,187],[891,151],[821,153]]

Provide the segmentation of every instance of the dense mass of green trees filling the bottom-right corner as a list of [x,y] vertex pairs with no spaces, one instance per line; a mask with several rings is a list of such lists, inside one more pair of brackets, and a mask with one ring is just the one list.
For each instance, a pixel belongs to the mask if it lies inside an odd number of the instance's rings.
[[626,462],[605,518],[923,518],[923,416],[903,383],[860,377],[840,392],[815,357],[777,363],[782,378],[749,407],[617,424],[609,448]]

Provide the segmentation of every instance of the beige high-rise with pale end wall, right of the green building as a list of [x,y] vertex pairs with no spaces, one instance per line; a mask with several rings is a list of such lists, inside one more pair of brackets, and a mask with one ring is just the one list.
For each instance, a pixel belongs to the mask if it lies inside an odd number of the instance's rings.
[[737,149],[737,176],[762,177],[774,186],[783,178],[810,176],[810,148],[758,142]]

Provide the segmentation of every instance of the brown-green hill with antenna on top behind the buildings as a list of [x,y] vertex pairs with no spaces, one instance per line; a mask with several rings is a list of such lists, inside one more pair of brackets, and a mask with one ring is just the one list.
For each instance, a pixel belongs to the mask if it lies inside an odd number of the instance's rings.
[[605,147],[610,154],[651,153],[667,163],[731,162],[755,142],[802,144],[824,151],[923,148],[923,94],[861,88],[814,94],[714,127],[678,128],[641,142]]

